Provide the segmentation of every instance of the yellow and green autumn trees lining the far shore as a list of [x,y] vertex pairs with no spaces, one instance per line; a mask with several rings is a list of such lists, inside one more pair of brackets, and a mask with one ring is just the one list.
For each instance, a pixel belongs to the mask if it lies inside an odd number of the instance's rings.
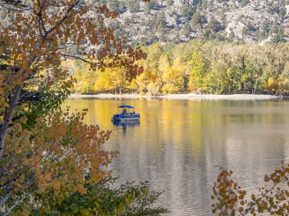
[[276,94],[289,93],[289,43],[235,43],[193,39],[188,43],[155,43],[141,47],[147,58],[138,60],[142,73],[124,68],[90,70],[79,60],[67,60],[78,83],[73,94]]

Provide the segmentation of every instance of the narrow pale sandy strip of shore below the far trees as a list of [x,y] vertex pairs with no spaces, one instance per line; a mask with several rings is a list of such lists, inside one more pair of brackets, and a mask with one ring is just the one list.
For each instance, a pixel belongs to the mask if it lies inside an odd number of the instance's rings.
[[204,99],[273,99],[279,98],[280,96],[268,95],[268,94],[227,94],[227,95],[216,95],[216,94],[166,94],[159,96],[147,96],[139,94],[72,94],[70,98],[174,98],[174,99],[190,99],[190,98],[204,98]]

